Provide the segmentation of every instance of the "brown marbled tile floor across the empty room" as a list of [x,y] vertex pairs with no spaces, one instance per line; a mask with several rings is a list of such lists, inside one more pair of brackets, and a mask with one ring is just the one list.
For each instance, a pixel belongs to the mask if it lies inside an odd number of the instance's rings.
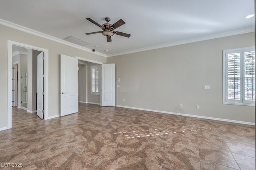
[[0,131],[0,168],[7,163],[29,170],[255,170],[255,127],[91,104],[44,121],[14,107],[12,129]]

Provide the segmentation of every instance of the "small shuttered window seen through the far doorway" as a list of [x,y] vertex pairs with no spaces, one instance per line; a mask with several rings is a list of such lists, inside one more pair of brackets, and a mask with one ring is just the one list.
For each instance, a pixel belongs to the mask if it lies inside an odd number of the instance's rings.
[[92,66],[92,95],[100,95],[100,65]]

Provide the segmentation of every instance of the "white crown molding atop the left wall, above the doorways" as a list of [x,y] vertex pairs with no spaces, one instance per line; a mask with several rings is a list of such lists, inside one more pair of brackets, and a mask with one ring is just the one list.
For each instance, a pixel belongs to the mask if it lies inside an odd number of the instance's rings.
[[77,49],[82,49],[82,50],[87,51],[87,52],[89,52],[89,53],[94,53],[94,54],[97,54],[97,55],[100,55],[100,56],[103,56],[103,57],[107,57],[106,54],[103,54],[103,53],[100,53],[100,52],[97,52],[97,51],[92,52],[91,49],[88,49],[88,48],[86,48],[86,47],[82,47],[82,46],[80,46],[80,45],[76,45],[76,44],[74,44],[74,43],[67,42],[67,41],[62,40],[62,39],[60,39],[60,38],[56,38],[56,37],[54,37],[54,36],[50,36],[50,35],[44,34],[44,33],[42,33],[42,32],[38,32],[38,31],[36,31],[36,30],[32,30],[32,29],[30,29],[30,28],[26,28],[26,27],[20,26],[20,25],[18,25],[18,24],[14,24],[14,23],[12,23],[12,22],[9,22],[9,21],[3,20],[3,19],[0,19],[0,24],[3,25],[3,26],[7,26],[7,27],[10,27],[10,28],[14,28],[14,29],[16,29],[16,30],[20,30],[20,31],[22,31],[22,32],[26,32],[26,33],[29,33],[29,34],[33,34],[33,35],[38,36],[38,37],[46,38],[46,39],[52,40],[52,41],[54,41],[54,42],[62,43],[62,44],[64,44],[64,45],[68,45],[68,46],[70,46],[70,47],[74,47],[74,48],[77,48]]

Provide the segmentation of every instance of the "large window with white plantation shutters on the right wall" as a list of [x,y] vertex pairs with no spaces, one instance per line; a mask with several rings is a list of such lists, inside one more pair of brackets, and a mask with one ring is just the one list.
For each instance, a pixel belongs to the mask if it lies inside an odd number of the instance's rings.
[[223,103],[255,103],[255,49],[223,50]]

